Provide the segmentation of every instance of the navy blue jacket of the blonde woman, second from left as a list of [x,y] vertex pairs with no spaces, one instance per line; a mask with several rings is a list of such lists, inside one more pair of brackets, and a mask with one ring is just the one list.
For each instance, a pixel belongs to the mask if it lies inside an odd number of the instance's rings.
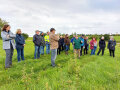
[[16,42],[16,49],[24,48],[23,45],[25,44],[25,39],[22,35],[16,34],[15,42]]

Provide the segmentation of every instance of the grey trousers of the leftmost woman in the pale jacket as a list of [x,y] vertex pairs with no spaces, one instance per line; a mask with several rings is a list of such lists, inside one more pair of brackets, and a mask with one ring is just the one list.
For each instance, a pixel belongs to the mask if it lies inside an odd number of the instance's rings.
[[12,56],[14,52],[12,45],[10,45],[10,49],[5,49],[5,52],[6,52],[5,68],[9,68],[12,65]]

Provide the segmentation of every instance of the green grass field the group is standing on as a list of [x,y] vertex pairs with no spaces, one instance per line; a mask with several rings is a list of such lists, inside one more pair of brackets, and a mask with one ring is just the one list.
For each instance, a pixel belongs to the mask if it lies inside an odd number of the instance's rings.
[[12,68],[4,70],[5,52],[0,40],[0,90],[120,90],[119,44],[115,58],[106,48],[104,56],[74,59],[71,48],[68,56],[64,52],[57,56],[55,68],[51,67],[50,55],[33,58],[34,44],[28,40],[26,60],[18,63],[15,50]]

